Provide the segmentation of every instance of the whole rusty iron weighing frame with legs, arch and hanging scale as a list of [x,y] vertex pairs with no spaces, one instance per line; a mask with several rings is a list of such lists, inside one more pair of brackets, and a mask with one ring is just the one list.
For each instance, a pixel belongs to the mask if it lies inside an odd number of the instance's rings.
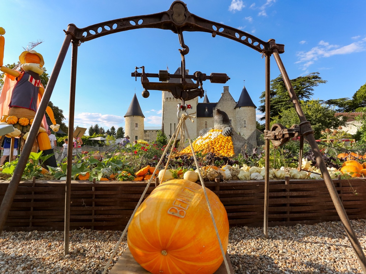
[[[130,16],[126,18],[119,18],[114,20],[109,20],[107,22],[101,22],[93,24],[91,26],[78,28],[74,24],[69,24],[64,39],[63,45],[61,46],[59,56],[57,57],[55,66],[52,70],[51,76],[49,78],[47,87],[45,89],[44,95],[42,97],[41,103],[38,107],[36,116],[34,118],[33,124],[31,126],[29,136],[23,147],[23,152],[19,157],[18,164],[14,170],[14,175],[12,176],[6,193],[3,197],[3,201],[0,206],[0,231],[3,230],[5,222],[7,220],[8,213],[11,208],[12,201],[15,197],[16,191],[19,186],[23,171],[26,167],[29,155],[33,146],[34,141],[40,128],[43,115],[46,111],[46,107],[51,98],[53,88],[55,87],[57,77],[60,73],[64,58],[66,57],[67,50],[72,45],[71,52],[71,77],[70,77],[70,109],[69,109],[69,131],[68,138],[72,140],[73,138],[73,128],[74,128],[74,111],[75,111],[75,90],[76,90],[76,67],[77,67],[77,56],[78,47],[81,46],[83,42],[87,42],[98,37],[102,37],[109,34],[114,34],[127,30],[134,30],[139,28],[159,28],[163,30],[171,30],[173,33],[178,34],[180,37],[180,44],[183,47],[181,54],[188,53],[188,47],[184,45],[183,36],[181,35],[183,31],[202,31],[206,33],[211,33],[212,37],[216,35],[231,39],[243,45],[250,47],[260,53],[261,57],[265,57],[265,195],[264,195],[264,236],[268,237],[268,203],[269,203],[269,142],[270,140],[276,141],[276,144],[281,144],[286,141],[286,138],[290,136],[306,137],[309,144],[314,152],[317,164],[322,172],[324,183],[329,191],[330,197],[332,198],[333,204],[339,214],[340,220],[343,223],[345,231],[348,238],[350,239],[352,248],[354,249],[355,255],[358,258],[358,262],[361,265],[362,271],[366,273],[366,257],[362,251],[359,241],[356,237],[355,231],[352,228],[351,222],[347,216],[346,210],[339,198],[337,190],[333,184],[332,178],[326,169],[326,165],[322,158],[322,154],[318,148],[315,141],[314,134],[312,132],[309,122],[307,122],[306,117],[301,109],[299,100],[294,92],[290,78],[287,75],[285,67],[282,63],[280,54],[284,53],[284,45],[277,44],[274,39],[269,39],[268,42],[262,41],[261,39],[246,33],[242,30],[238,30],[233,27],[226,26],[224,24],[210,21],[208,19],[201,18],[197,15],[191,14],[185,3],[182,1],[174,1],[171,7],[167,11],[163,11],[156,14],[150,15],[138,15]],[[299,129],[294,127],[293,129],[282,129],[281,127],[269,129],[269,103],[270,103],[270,56],[274,57],[276,64],[280,70],[283,77],[285,86],[287,88],[288,94],[290,96],[291,102],[294,104],[296,113],[300,119]],[[142,67],[141,67],[142,68]],[[165,89],[172,92],[176,98],[182,100],[180,110],[186,111],[185,100],[194,98],[194,96],[202,96],[202,84],[201,81],[210,79],[215,83],[225,83],[228,77],[225,79],[223,75],[212,74],[204,76],[203,73],[197,73],[193,75],[192,78],[196,81],[194,86],[187,85],[185,83],[184,76],[185,64],[184,58],[182,58],[182,77],[180,85],[165,86]],[[141,76],[142,85],[146,89],[150,90],[164,90],[162,86],[157,84],[160,83],[150,83],[147,79],[149,75],[143,70],[141,75],[136,70],[136,75]],[[161,72],[161,79],[168,79],[168,77],[173,77],[168,75],[167,72]],[[191,76],[190,76],[191,77]],[[166,83],[165,83],[166,84]],[[144,92],[145,96],[148,92]],[[192,97],[193,96],[193,97]],[[69,252],[69,238],[70,238],[70,199],[71,199],[71,168],[72,168],[72,146],[68,146],[67,151],[67,176],[66,176],[66,195],[65,195],[65,231],[64,231],[64,254],[67,255]]]

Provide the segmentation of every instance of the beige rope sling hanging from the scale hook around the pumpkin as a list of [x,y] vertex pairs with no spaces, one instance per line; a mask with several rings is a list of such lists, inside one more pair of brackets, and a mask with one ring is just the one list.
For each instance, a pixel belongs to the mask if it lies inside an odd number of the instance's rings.
[[[203,177],[202,177],[202,174],[201,174],[201,170],[199,169],[199,164],[198,164],[198,161],[197,161],[197,158],[196,158],[194,149],[193,149],[193,144],[191,142],[191,138],[189,136],[188,128],[187,128],[187,125],[186,125],[186,119],[190,119],[192,122],[194,122],[193,121],[193,118],[195,118],[195,116],[191,116],[193,114],[195,114],[195,112],[192,113],[192,114],[190,114],[190,115],[187,115],[185,113],[182,114],[182,117],[179,120],[178,126],[176,127],[176,129],[175,129],[172,137],[170,138],[170,140],[169,140],[169,142],[168,142],[168,144],[167,144],[167,146],[166,146],[166,148],[165,148],[165,150],[163,152],[163,155],[161,155],[161,158],[160,158],[159,162],[157,163],[153,174],[155,174],[156,171],[158,170],[158,167],[160,166],[161,162],[163,161],[165,154],[167,154],[167,151],[168,151],[169,147],[172,146],[172,148],[173,148],[173,144],[175,144],[175,142],[177,140],[178,133],[180,133],[180,137],[181,137],[180,139],[181,140],[184,140],[184,136],[185,136],[185,133],[184,132],[187,132],[187,139],[189,141],[189,144],[190,144],[190,147],[191,147],[191,150],[192,150],[192,155],[193,155],[193,159],[194,159],[195,165],[196,165],[196,167],[198,168],[198,171],[199,171],[198,172],[199,180],[201,181],[203,194],[205,195],[205,198],[206,198],[206,203],[207,203],[207,206],[208,206],[208,209],[209,209],[209,212],[210,212],[210,216],[211,216],[211,219],[212,219],[212,224],[213,224],[214,229],[215,229],[215,232],[216,232],[216,237],[217,237],[217,240],[219,241],[221,255],[223,256],[223,259],[224,259],[226,271],[227,271],[228,274],[230,274],[230,269],[229,269],[229,265],[228,265],[228,262],[227,262],[227,259],[226,259],[226,256],[225,256],[225,251],[224,251],[223,245],[221,243],[219,231],[217,230],[216,221],[214,219],[214,216],[213,216],[213,213],[212,213],[212,209],[211,209],[211,205],[210,205],[210,202],[209,202],[209,198],[208,198],[207,193],[206,193],[205,183],[204,183],[204,180],[203,180]],[[172,142],[173,138],[174,138],[174,142]],[[180,142],[178,151],[181,151],[182,148],[183,148],[183,142]],[[165,165],[162,178],[164,178],[165,171],[168,168],[169,160],[171,159],[172,152],[173,152],[173,149],[170,150],[170,153],[169,153],[169,156],[168,156],[168,160],[167,160],[167,164]],[[136,205],[136,207],[134,209],[134,212],[132,213],[132,215],[130,217],[130,220],[128,220],[127,225],[124,228],[124,230],[122,232],[122,235],[121,235],[119,241],[117,242],[116,247],[115,247],[114,251],[112,252],[112,254],[111,254],[111,256],[110,256],[110,258],[109,258],[109,260],[107,262],[107,265],[105,266],[104,271],[103,271],[102,274],[107,273],[107,270],[109,268],[109,265],[111,264],[113,257],[115,256],[115,254],[116,254],[116,252],[117,252],[120,244],[122,243],[122,240],[124,239],[124,236],[126,235],[127,229],[128,229],[128,227],[129,227],[129,225],[130,225],[130,223],[132,221],[132,218],[135,216],[135,213],[136,213],[138,207],[140,206],[143,197],[145,197],[145,194],[146,194],[147,190],[149,189],[149,186],[150,186],[150,183],[152,182],[152,180],[153,180],[153,176],[149,179],[149,182],[147,182],[146,187],[145,187],[145,190],[143,191],[143,193],[142,193],[142,195],[141,195],[141,197],[140,197],[140,199],[139,199],[139,201],[138,201],[138,203],[137,203],[137,205]]]

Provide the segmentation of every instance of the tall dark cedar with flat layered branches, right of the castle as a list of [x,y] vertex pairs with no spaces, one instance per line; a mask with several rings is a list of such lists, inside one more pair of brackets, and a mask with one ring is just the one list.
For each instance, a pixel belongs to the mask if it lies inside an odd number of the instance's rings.
[[[300,100],[309,100],[313,96],[314,87],[319,84],[326,83],[326,80],[321,79],[319,72],[312,72],[306,76],[300,76],[290,80],[294,91]],[[261,97],[262,103],[258,107],[262,113],[265,113],[265,91],[262,92]],[[275,117],[281,118],[283,111],[293,108],[292,101],[288,95],[287,88],[282,79],[282,76],[278,76],[276,79],[271,81],[270,88],[270,117],[273,120]],[[260,118],[261,121],[265,120],[265,117]]]

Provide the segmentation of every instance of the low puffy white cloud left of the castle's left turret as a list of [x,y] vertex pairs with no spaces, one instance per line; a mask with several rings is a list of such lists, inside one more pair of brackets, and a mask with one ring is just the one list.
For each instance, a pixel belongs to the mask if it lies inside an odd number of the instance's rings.
[[[68,122],[68,117],[65,118]],[[121,126],[124,122],[124,117],[112,115],[112,114],[101,114],[101,113],[89,113],[83,112],[75,115],[74,125],[81,126],[84,128],[89,128],[91,125],[98,124],[105,130],[109,129],[111,126],[116,128]]]

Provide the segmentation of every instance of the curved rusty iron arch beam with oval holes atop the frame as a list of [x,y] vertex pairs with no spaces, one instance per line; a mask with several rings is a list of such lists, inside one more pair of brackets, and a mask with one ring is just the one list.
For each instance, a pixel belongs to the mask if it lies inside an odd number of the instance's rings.
[[[215,37],[216,35],[223,36],[242,43],[259,53],[272,54],[273,49],[271,43],[262,41],[254,35],[191,14],[187,9],[186,4],[182,1],[174,1],[168,11],[156,14],[114,19],[84,28],[77,28],[73,24],[72,26],[75,27],[75,32],[73,34],[74,39],[80,42],[90,41],[104,35],[126,30],[160,28],[171,30],[174,33],[178,33],[178,30],[202,31],[211,33],[212,37]],[[284,45],[276,45],[278,52],[283,53]]]

